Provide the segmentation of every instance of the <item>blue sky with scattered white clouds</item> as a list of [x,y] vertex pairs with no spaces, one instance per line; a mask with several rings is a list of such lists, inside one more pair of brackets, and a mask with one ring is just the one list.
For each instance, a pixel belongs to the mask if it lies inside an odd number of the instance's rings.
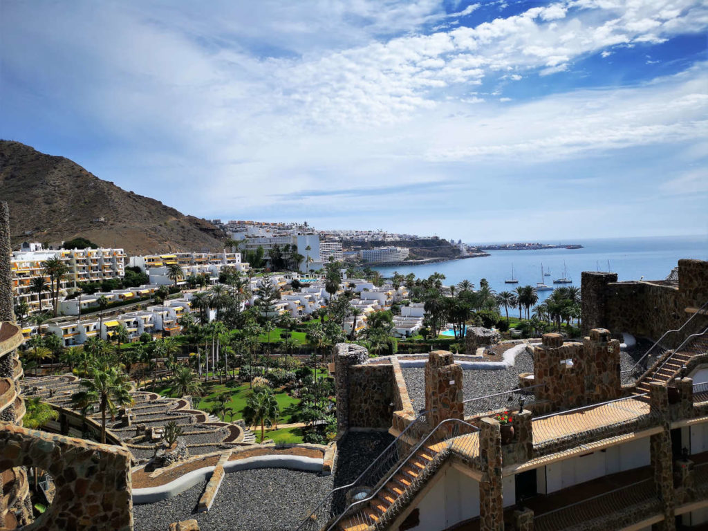
[[707,0],[0,0],[0,138],[207,219],[708,234],[707,29]]

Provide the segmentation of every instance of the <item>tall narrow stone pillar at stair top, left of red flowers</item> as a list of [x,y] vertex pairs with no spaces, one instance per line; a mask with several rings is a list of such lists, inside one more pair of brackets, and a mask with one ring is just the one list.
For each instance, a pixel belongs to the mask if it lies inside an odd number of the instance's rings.
[[482,418],[479,431],[479,531],[504,530],[503,486],[501,482],[501,426],[493,418]]

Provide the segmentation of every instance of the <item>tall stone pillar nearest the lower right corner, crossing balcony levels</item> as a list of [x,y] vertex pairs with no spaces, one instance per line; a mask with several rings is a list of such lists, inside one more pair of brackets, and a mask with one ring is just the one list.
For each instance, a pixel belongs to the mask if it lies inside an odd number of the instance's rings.
[[676,528],[674,518],[675,491],[673,488],[673,457],[668,423],[669,407],[666,384],[651,382],[649,398],[651,413],[661,419],[663,426],[661,433],[651,435],[649,438],[654,486],[664,513],[663,522],[655,524],[654,529],[656,531],[674,531]]

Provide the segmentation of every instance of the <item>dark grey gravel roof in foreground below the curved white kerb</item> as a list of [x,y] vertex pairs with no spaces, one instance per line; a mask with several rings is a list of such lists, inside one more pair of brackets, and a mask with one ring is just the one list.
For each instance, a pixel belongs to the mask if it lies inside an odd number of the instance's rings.
[[135,506],[135,531],[164,531],[188,518],[196,518],[202,531],[292,530],[332,489],[332,477],[285,469],[232,472],[207,513],[193,514],[202,483],[174,498]]

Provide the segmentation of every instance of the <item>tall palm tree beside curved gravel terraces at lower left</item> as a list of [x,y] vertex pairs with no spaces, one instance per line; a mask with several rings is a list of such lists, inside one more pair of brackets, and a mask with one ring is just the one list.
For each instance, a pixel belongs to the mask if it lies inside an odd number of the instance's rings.
[[98,404],[98,410],[101,411],[101,444],[105,445],[106,413],[115,416],[120,406],[133,403],[130,381],[116,367],[108,367],[105,371],[93,370],[90,379],[79,382],[79,388],[81,391],[72,395],[72,404],[81,409],[84,416],[93,404]]

